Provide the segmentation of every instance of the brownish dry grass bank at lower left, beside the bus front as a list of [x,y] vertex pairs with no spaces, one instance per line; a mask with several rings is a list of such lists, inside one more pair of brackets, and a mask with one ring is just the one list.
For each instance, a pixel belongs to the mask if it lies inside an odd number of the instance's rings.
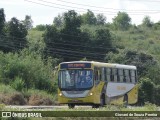
[[53,95],[40,90],[17,92],[9,85],[0,84],[0,104],[5,105],[53,105]]

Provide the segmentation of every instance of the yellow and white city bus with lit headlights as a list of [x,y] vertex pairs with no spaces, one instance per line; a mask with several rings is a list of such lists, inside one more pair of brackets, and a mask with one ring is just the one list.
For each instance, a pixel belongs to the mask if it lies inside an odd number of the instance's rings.
[[58,102],[75,105],[135,104],[137,68],[94,61],[62,62],[58,68]]

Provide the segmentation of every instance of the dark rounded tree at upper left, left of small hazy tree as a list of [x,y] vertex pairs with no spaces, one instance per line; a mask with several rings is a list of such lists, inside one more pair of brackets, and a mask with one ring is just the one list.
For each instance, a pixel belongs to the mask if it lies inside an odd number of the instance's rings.
[[13,17],[7,25],[8,39],[12,50],[19,50],[27,46],[27,29],[18,19]]

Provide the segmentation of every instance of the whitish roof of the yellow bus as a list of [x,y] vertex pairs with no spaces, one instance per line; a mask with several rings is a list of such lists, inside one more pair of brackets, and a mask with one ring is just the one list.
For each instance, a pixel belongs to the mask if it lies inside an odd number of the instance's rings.
[[71,61],[71,62],[62,62],[60,64],[71,64],[71,63],[91,63],[97,67],[111,67],[111,68],[123,68],[123,69],[134,69],[136,70],[136,66],[133,65],[124,65],[117,63],[103,63],[103,62],[95,62],[95,61]]

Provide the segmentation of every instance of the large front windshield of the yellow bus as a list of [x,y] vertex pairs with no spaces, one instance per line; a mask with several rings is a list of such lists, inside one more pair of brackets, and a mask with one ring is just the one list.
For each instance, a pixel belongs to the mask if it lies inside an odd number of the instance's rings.
[[66,90],[89,89],[93,86],[92,70],[60,70],[59,87]]

